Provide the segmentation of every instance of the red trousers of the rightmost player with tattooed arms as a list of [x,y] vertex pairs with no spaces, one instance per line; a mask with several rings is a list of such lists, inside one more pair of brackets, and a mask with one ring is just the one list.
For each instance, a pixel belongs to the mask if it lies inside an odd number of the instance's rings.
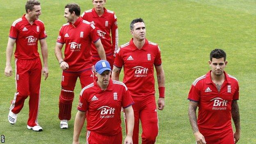
[[227,130],[199,130],[207,144],[235,144],[233,129]]

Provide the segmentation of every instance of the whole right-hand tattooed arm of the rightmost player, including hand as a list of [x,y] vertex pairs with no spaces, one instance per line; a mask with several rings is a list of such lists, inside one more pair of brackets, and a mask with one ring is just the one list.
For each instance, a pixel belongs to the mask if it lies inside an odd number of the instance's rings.
[[240,139],[240,114],[239,114],[239,107],[238,107],[238,102],[237,101],[232,101],[231,104],[231,114],[232,114],[232,119],[235,123],[235,133],[234,133],[234,138],[235,138],[235,144],[238,142]]

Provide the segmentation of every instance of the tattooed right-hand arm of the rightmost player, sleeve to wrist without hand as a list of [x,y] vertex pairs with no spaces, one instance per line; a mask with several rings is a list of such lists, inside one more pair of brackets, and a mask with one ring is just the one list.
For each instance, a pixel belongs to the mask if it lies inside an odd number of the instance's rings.
[[239,107],[237,101],[232,101],[231,104],[231,115],[232,119],[235,123],[235,129],[240,130],[240,114],[239,114]]

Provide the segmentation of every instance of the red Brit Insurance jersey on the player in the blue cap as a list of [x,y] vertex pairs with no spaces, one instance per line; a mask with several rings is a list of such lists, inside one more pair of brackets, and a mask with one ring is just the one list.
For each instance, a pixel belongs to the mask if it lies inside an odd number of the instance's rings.
[[96,81],[82,89],[78,110],[87,111],[87,130],[116,135],[121,131],[121,107],[129,107],[133,99],[123,82],[110,79],[103,91]]

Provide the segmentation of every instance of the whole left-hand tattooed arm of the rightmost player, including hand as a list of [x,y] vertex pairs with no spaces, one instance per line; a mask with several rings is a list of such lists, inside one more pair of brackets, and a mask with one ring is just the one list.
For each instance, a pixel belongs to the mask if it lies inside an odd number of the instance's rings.
[[197,105],[198,105],[198,102],[195,102],[195,101],[189,102],[188,117],[194,133],[194,137],[196,138],[197,144],[206,144],[204,136],[199,132],[198,126],[197,126]]

